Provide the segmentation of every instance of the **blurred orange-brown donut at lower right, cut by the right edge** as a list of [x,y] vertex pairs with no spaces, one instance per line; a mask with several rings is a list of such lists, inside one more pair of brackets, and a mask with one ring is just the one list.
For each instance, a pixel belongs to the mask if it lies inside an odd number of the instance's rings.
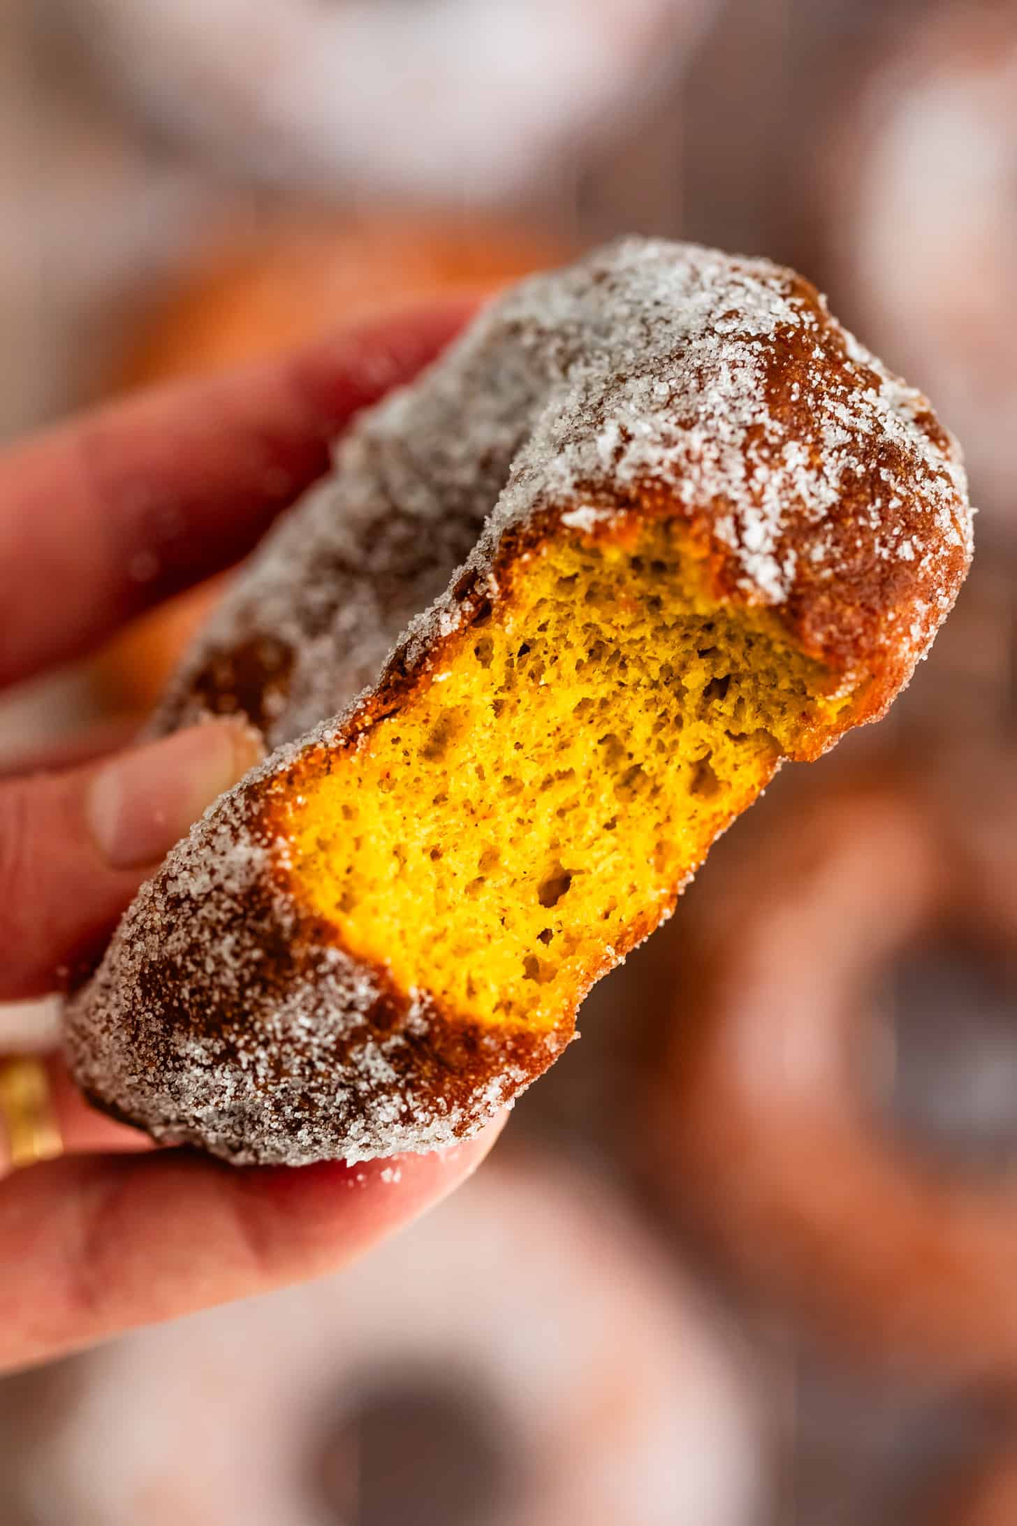
[[1017,1373],[1012,1173],[922,1149],[866,1074],[898,960],[947,943],[1012,969],[1014,778],[1012,751],[968,743],[820,792],[735,855],[671,951],[657,1137],[680,1210],[826,1344],[951,1381]]

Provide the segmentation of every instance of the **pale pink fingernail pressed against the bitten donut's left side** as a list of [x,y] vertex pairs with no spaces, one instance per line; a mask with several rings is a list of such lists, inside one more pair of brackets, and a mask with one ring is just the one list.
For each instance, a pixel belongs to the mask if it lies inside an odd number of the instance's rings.
[[111,868],[157,864],[261,757],[250,729],[209,723],[108,763],[85,801],[88,827],[107,864]]

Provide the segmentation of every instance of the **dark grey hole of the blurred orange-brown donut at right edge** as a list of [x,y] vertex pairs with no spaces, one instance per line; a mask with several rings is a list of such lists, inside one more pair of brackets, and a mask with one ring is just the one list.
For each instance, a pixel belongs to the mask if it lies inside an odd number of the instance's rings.
[[912,948],[886,972],[875,1012],[869,1073],[883,1126],[938,1169],[1012,1170],[1017,961],[971,943]]

